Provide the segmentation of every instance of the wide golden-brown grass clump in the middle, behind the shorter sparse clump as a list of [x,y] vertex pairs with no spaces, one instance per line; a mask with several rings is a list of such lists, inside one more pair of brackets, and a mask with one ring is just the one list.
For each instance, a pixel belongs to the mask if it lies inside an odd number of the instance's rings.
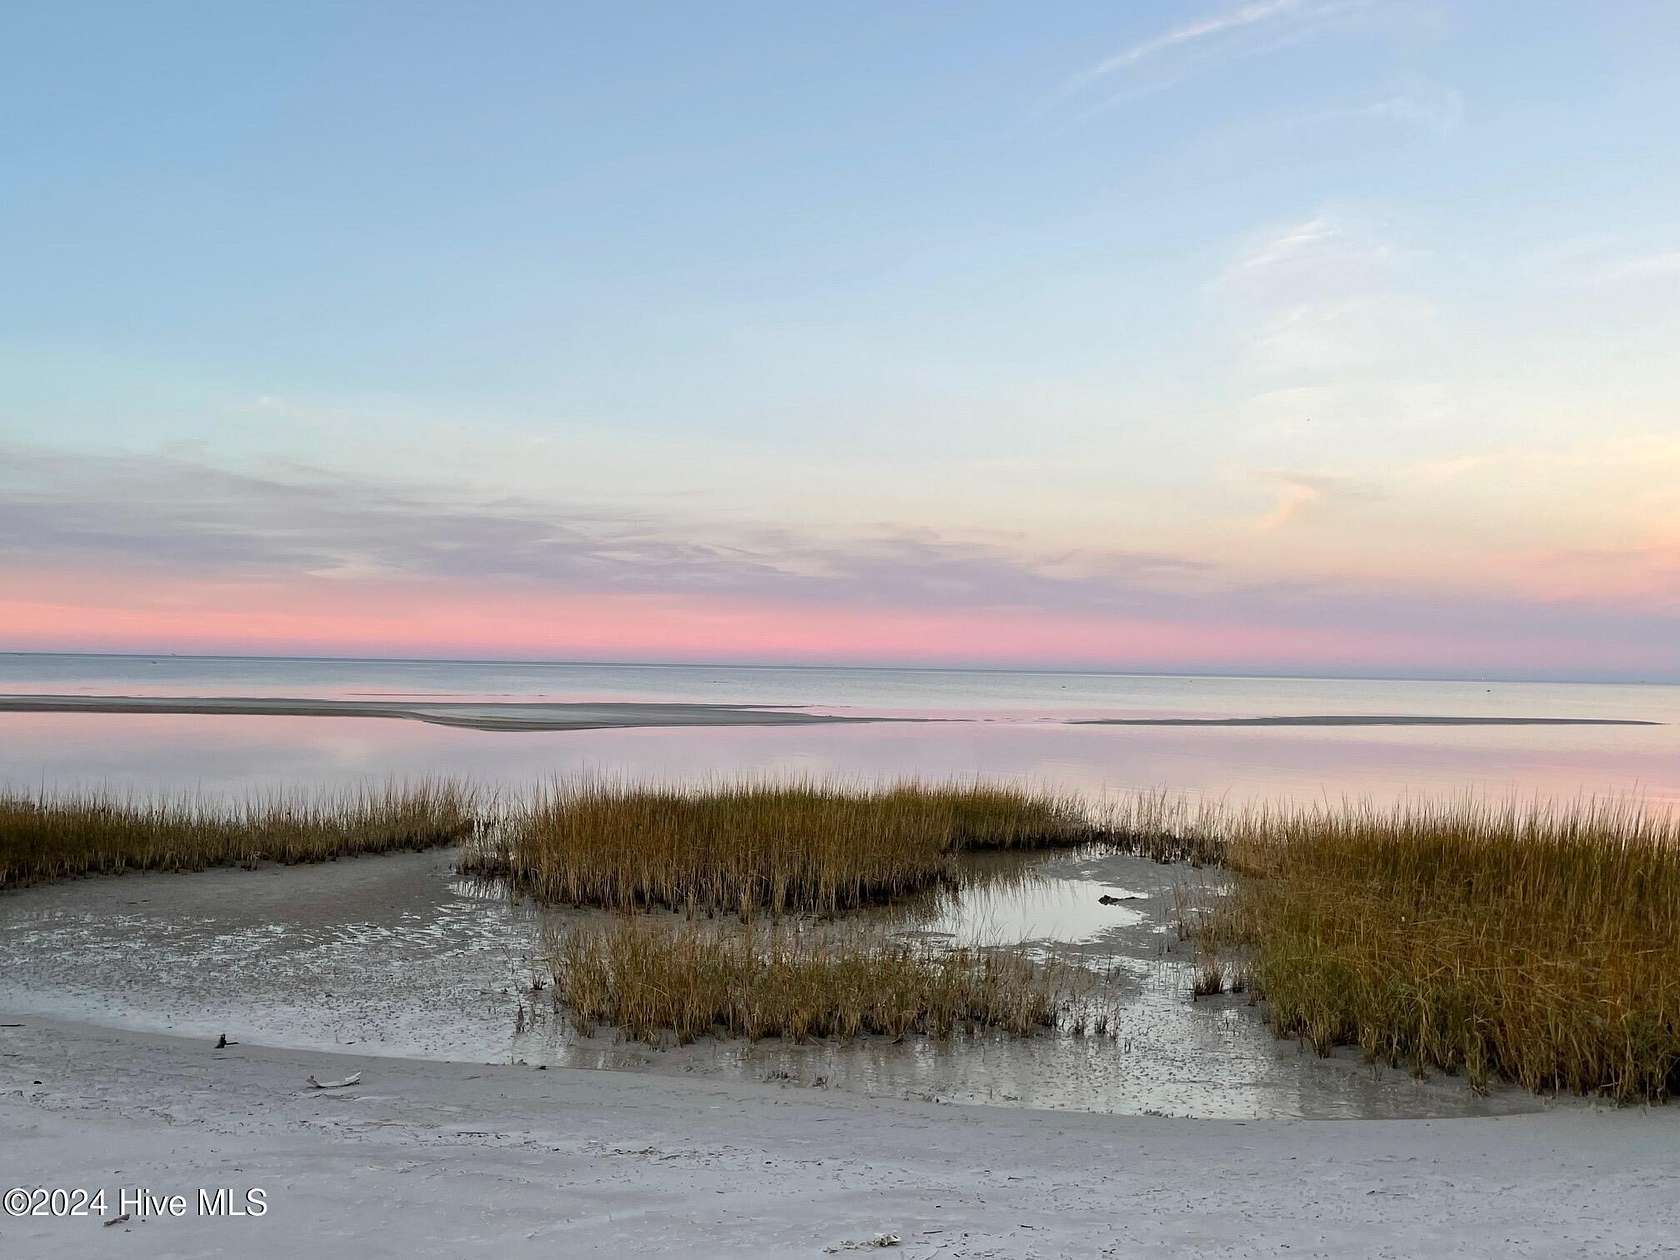
[[464,869],[573,906],[833,914],[946,880],[961,850],[1095,835],[1075,798],[979,783],[575,781],[514,810]]

